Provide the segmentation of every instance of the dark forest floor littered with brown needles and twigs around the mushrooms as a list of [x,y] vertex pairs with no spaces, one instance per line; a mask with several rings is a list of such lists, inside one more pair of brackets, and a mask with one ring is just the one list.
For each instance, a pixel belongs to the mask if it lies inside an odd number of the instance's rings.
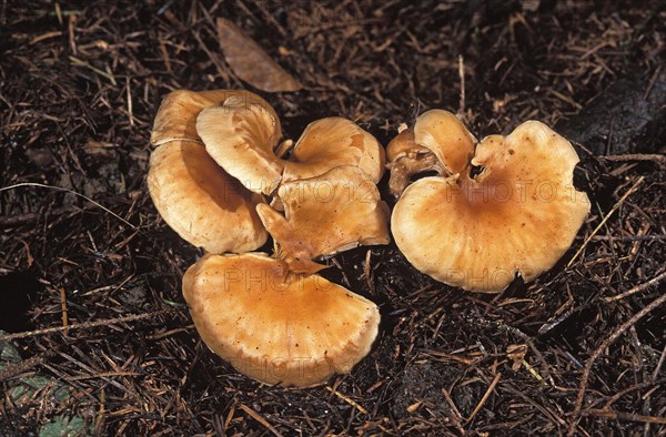
[[[59,417],[99,435],[666,435],[664,1],[110,3],[0,2],[0,435]],[[218,17],[304,84],[258,91],[290,138],[342,115],[386,144],[431,108],[477,136],[557,126],[593,204],[572,250],[498,295],[394,244],[341,254],[325,275],[382,307],[372,353],[304,390],[238,374],[193,329],[180,283],[200,253],[145,187],[168,92],[251,89]]]

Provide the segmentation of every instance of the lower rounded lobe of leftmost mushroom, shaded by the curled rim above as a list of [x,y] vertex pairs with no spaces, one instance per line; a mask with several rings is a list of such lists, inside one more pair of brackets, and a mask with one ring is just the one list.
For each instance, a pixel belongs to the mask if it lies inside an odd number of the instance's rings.
[[208,252],[248,252],[268,238],[248,192],[213,161],[203,145],[170,141],[150,156],[148,189],[164,221]]

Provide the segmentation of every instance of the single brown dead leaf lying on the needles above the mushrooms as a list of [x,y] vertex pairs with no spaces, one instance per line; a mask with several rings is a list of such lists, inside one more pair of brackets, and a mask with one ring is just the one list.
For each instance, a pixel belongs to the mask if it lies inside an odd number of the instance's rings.
[[266,92],[291,92],[303,88],[231,21],[218,19],[218,37],[229,67],[252,87]]

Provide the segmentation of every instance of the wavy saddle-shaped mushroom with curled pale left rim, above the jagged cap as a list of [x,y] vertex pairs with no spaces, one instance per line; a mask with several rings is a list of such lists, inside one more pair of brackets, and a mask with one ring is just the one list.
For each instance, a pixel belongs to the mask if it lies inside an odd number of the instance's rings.
[[270,195],[280,182],[322,175],[340,165],[356,165],[375,183],[384,171],[384,150],[370,133],[350,120],[322,119],[311,123],[287,160],[274,150],[281,132],[274,113],[260,104],[204,109],[196,132],[206,150],[229,174],[248,190]]

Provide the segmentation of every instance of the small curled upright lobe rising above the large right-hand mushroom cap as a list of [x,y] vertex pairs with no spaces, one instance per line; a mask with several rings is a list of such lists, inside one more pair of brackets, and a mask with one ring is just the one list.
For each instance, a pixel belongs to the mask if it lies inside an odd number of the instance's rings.
[[451,174],[465,170],[476,143],[457,116],[444,110],[418,115],[414,123],[414,141],[432,151]]

